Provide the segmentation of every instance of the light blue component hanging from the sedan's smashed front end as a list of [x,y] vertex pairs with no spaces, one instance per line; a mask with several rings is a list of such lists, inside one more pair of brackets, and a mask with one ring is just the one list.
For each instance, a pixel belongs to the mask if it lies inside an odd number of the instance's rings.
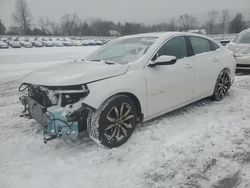
[[[61,137],[64,140],[76,141],[79,134],[78,122],[67,122],[66,113],[63,108],[52,106],[47,109],[47,126],[44,130],[44,142],[50,138]],[[46,139],[46,137],[49,137]]]

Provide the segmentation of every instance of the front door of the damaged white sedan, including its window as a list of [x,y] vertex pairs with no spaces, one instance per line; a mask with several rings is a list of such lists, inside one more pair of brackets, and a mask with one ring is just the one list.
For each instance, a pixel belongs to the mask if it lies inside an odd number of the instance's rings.
[[173,65],[146,67],[149,117],[188,103],[193,98],[194,64],[188,57],[185,38],[168,40],[152,61],[161,55],[175,56],[177,62]]

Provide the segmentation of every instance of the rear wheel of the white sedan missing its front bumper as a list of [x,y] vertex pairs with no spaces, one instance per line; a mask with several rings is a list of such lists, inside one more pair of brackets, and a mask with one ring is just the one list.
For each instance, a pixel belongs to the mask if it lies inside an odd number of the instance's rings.
[[231,86],[231,80],[229,76],[229,72],[224,70],[222,71],[215,84],[214,93],[212,95],[213,100],[220,101],[227,94],[229,88]]

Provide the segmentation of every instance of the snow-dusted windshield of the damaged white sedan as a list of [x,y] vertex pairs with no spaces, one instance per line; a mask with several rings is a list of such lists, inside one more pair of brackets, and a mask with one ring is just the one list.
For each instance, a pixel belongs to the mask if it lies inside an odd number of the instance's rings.
[[98,49],[86,59],[89,61],[127,64],[145,54],[156,39],[156,37],[118,39]]

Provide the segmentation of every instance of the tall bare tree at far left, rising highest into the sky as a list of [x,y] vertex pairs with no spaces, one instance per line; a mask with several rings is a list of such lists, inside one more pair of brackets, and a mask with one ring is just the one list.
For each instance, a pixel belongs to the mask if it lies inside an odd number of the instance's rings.
[[20,33],[28,34],[31,28],[31,12],[25,0],[18,0],[15,5],[15,12],[12,14],[14,23],[19,27]]

